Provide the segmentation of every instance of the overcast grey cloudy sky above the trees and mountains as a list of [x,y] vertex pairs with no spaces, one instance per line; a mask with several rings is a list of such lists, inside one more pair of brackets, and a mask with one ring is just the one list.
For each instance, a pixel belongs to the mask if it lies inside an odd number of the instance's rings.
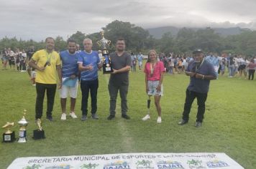
[[256,29],[255,0],[0,0],[0,39],[64,39],[100,32],[111,21],[143,28],[242,26]]

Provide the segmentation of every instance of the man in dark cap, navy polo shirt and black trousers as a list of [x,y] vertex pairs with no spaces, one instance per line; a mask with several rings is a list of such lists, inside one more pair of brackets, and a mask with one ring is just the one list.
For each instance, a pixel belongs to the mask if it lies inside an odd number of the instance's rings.
[[196,115],[196,127],[201,127],[204,112],[206,110],[206,98],[209,91],[211,79],[216,79],[216,73],[212,64],[204,59],[204,53],[201,50],[193,52],[193,61],[188,64],[186,75],[190,76],[190,83],[186,90],[186,101],[184,104],[183,117],[178,125],[185,125],[189,119],[191,105],[195,98],[197,99],[198,111]]

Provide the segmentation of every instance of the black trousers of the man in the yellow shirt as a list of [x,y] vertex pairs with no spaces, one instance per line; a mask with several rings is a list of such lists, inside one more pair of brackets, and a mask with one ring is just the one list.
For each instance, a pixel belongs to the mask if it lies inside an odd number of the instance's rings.
[[35,118],[42,117],[42,107],[45,98],[45,90],[47,96],[47,117],[52,117],[52,109],[54,105],[54,98],[56,92],[56,84],[42,84],[36,83],[37,101],[35,103]]

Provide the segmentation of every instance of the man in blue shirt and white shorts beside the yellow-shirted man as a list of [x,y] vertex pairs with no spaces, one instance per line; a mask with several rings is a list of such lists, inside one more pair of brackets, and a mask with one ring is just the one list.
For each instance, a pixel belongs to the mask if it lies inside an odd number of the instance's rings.
[[68,39],[68,50],[60,52],[62,61],[63,85],[60,90],[60,105],[62,110],[61,120],[66,120],[66,102],[68,93],[70,95],[70,116],[77,118],[74,110],[78,93],[78,52],[76,52],[76,41]]

